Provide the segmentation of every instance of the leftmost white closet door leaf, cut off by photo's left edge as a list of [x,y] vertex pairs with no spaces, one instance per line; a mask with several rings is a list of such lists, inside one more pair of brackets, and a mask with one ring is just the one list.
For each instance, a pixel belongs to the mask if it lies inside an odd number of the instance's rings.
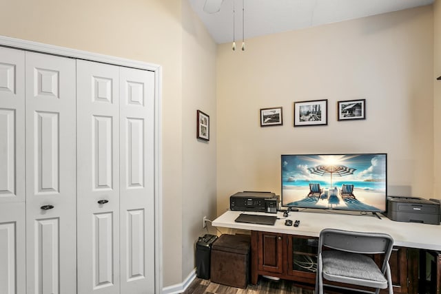
[[25,293],[25,53],[0,47],[0,293]]

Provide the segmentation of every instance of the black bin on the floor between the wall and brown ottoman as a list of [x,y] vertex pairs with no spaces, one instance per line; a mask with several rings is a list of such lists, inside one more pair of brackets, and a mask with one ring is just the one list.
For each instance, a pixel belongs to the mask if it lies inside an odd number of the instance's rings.
[[196,277],[209,280],[210,256],[212,244],[218,239],[216,235],[205,234],[196,242]]

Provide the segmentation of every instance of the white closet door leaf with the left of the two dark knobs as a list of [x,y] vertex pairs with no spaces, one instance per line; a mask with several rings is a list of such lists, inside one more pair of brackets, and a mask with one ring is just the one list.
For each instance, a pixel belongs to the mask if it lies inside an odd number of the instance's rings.
[[26,264],[31,293],[76,293],[75,61],[25,53]]

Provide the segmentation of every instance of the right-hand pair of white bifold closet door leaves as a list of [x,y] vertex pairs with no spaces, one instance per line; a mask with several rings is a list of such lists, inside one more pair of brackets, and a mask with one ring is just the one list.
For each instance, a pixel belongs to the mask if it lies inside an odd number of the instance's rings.
[[77,83],[79,293],[154,293],[154,73],[77,61]]

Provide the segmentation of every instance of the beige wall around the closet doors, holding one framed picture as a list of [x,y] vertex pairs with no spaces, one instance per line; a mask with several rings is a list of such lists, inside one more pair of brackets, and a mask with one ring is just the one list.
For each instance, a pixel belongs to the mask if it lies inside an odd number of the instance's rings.
[[[0,7],[0,35],[162,66],[163,286],[181,284],[194,268],[189,255],[203,231],[200,215],[215,214],[216,130],[209,144],[195,142],[196,107],[212,114],[215,125],[214,42],[190,20],[187,1],[0,0]],[[204,201],[198,216],[184,213],[189,199]]]

